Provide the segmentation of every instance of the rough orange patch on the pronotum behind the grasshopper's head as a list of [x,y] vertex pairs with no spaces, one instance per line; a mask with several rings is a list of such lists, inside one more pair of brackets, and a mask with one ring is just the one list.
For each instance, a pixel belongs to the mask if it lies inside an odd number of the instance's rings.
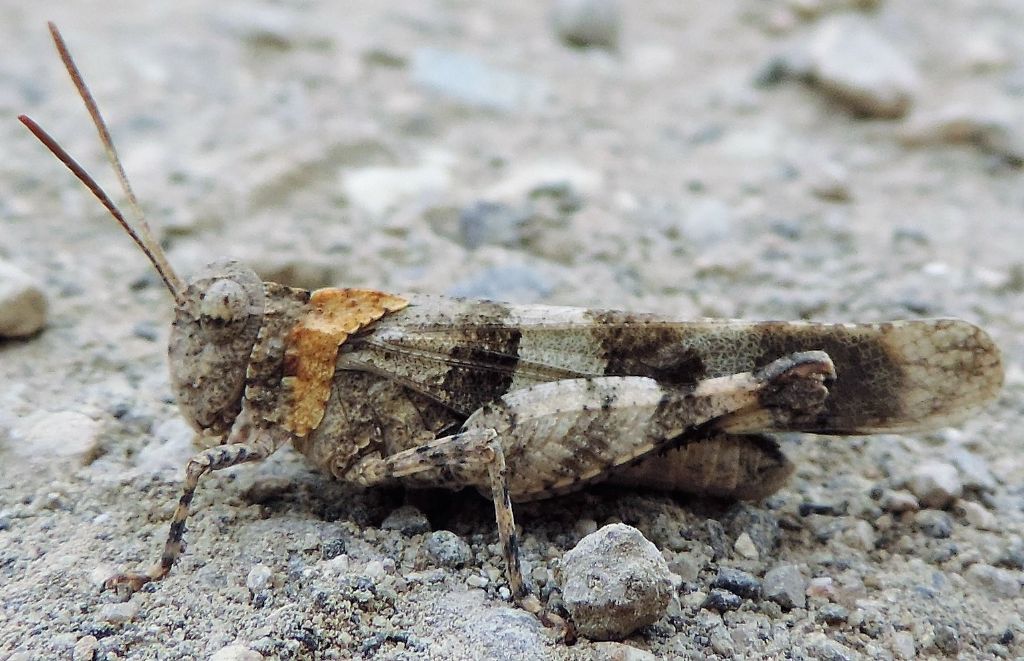
[[316,290],[309,297],[310,310],[288,335],[285,378],[291,392],[291,410],[285,428],[305,436],[324,420],[338,350],[348,336],[409,301],[373,290]]

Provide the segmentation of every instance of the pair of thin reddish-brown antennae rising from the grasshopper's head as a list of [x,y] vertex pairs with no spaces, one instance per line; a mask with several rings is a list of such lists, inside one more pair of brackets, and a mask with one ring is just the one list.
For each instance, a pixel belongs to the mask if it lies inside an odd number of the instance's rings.
[[118,179],[121,181],[121,188],[128,197],[128,204],[132,209],[132,215],[135,217],[135,225],[138,227],[138,230],[136,231],[125,220],[124,214],[111,201],[110,195],[99,187],[99,184],[41,126],[25,115],[18,116],[17,119],[99,200],[100,204],[106,208],[106,211],[114,216],[115,220],[121,224],[125,231],[128,232],[128,235],[132,237],[145,256],[150,258],[157,272],[160,273],[160,277],[164,280],[164,284],[167,285],[167,289],[171,292],[171,296],[174,297],[175,303],[181,304],[184,302],[184,284],[181,282],[181,278],[174,272],[174,269],[171,268],[170,263],[167,261],[167,256],[164,255],[164,251],[160,248],[160,244],[153,237],[153,232],[150,229],[148,223],[145,222],[145,217],[142,215],[138,200],[131,189],[131,184],[128,183],[128,177],[125,175],[124,167],[121,165],[121,159],[118,158],[117,149],[114,148],[114,140],[111,139],[111,132],[106,129],[106,123],[103,122],[103,118],[99,114],[99,107],[96,105],[95,99],[92,98],[92,93],[89,92],[89,88],[82,79],[78,67],[75,65],[75,60],[72,59],[68,45],[60,36],[60,31],[57,30],[57,27],[52,21],[46,25],[50,29],[53,43],[60,54],[60,60],[68,70],[72,82],[75,83],[75,87],[78,89],[78,93],[82,97],[86,109],[89,111],[89,115],[92,117],[92,123],[99,133],[99,141],[103,143],[103,149],[106,151],[106,160],[110,161],[111,166],[118,175]]

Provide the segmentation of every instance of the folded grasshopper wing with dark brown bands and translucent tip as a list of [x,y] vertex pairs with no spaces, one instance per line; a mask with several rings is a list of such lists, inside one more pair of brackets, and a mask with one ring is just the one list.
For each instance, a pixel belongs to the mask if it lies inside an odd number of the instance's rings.
[[818,434],[874,434],[955,424],[999,392],[998,349],[958,319],[881,323],[665,318],[444,297],[412,304],[352,338],[339,369],[379,373],[468,415],[518,388],[561,379],[648,377],[693,384],[820,350],[836,365]]

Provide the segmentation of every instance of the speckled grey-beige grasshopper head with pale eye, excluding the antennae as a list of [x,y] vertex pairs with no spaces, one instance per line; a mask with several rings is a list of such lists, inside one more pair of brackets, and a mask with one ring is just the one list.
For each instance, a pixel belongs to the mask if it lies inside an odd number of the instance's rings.
[[262,323],[263,282],[247,266],[217,261],[188,282],[168,354],[178,408],[198,431],[220,436],[230,429]]

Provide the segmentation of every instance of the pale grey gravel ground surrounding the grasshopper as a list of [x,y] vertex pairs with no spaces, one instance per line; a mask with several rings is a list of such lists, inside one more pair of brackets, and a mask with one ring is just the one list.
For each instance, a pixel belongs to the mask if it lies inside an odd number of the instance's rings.
[[[1024,655],[1024,5],[44,4],[0,5],[0,330],[30,334],[0,340],[0,657]],[[98,585],[155,559],[191,439],[166,291],[13,120],[113,188],[47,18],[179,271],[226,255],[305,287],[961,316],[1006,388],[955,430],[786,438],[796,475],[759,503],[598,487],[518,508],[544,594],[605,524],[660,550],[675,594],[623,643],[565,647],[509,607],[486,500],[360,492],[291,450],[204,480],[179,565],[118,603]]]

